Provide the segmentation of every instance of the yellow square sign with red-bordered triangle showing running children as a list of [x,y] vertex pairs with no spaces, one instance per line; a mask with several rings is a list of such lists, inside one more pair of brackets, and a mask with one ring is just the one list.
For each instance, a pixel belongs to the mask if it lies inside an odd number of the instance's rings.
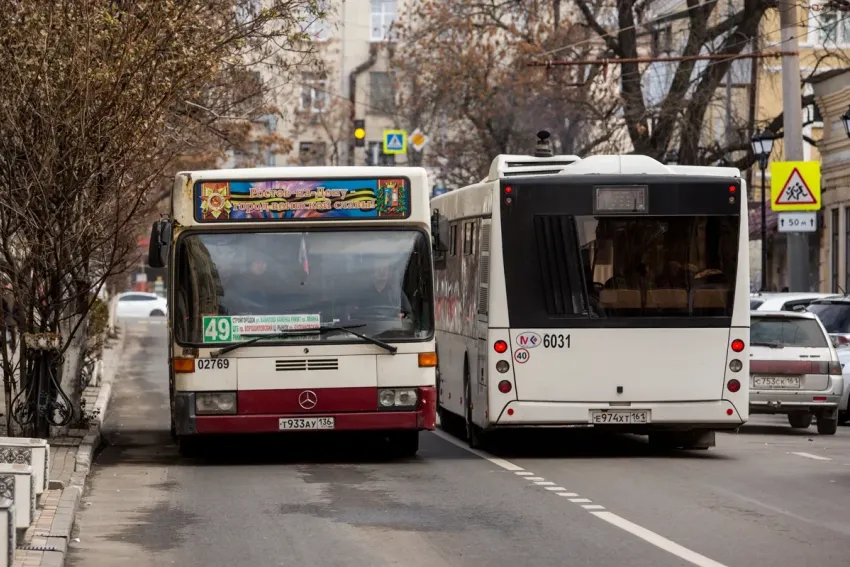
[[820,162],[780,161],[770,164],[770,208],[776,212],[821,208]]

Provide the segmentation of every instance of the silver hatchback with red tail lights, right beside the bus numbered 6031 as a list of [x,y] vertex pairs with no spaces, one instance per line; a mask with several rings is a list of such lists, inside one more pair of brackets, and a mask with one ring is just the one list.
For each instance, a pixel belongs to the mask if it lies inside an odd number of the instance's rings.
[[814,416],[818,433],[834,435],[843,393],[838,354],[814,314],[750,312],[751,414],[786,414],[801,429]]

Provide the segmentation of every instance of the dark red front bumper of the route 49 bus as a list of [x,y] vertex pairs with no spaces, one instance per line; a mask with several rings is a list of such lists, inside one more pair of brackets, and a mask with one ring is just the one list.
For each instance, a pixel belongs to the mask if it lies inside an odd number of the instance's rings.
[[[432,395],[424,396],[420,407],[409,411],[370,411],[316,414],[236,414],[196,415],[195,393],[176,392],[174,425],[177,435],[228,435],[235,433],[291,433],[304,431],[397,431],[428,430],[437,426],[436,392],[433,388],[420,388]],[[286,420],[333,418],[332,429],[281,427]]]

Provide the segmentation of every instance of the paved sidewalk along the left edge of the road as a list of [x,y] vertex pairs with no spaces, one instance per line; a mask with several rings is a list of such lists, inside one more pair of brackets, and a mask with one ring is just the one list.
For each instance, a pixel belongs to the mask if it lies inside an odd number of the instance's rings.
[[112,393],[112,381],[121,364],[126,333],[116,328],[118,337],[104,348],[103,376],[98,386],[83,392],[86,411],[95,414],[88,431],[71,430],[68,437],[50,439],[50,489],[41,495],[42,507],[36,519],[19,540],[14,567],[61,567],[65,564],[74,516],[80,505],[92,458],[100,444],[100,427]]

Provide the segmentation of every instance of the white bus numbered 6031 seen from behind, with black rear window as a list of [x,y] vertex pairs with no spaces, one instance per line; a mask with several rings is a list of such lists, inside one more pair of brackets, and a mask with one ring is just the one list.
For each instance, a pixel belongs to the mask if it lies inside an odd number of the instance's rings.
[[441,421],[714,446],[748,418],[746,195],[734,168],[503,155],[433,198]]

